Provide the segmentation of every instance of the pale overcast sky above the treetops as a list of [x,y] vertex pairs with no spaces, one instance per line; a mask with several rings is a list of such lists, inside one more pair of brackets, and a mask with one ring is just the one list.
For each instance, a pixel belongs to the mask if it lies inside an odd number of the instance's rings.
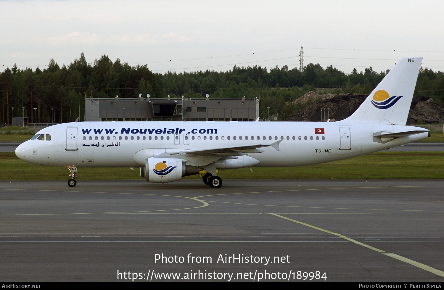
[[234,64],[392,68],[423,56],[444,71],[444,1],[0,0],[0,70],[68,65],[84,52],[131,66],[227,71]]

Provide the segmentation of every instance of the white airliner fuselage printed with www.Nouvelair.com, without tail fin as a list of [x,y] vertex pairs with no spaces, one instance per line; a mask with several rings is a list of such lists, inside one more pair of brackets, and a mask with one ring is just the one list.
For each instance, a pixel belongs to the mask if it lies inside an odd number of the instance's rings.
[[[421,133],[387,143],[378,142],[373,136],[381,131],[415,130]],[[254,165],[257,167],[291,167],[381,151],[424,139],[428,132],[418,127],[384,124],[209,121],[76,122],[47,127],[39,134],[50,137],[22,143],[16,150],[20,159],[61,167],[143,167],[144,163],[135,158],[143,150],[144,160],[165,152],[271,144],[283,139],[279,151],[262,147],[262,153],[248,155],[260,162]]]

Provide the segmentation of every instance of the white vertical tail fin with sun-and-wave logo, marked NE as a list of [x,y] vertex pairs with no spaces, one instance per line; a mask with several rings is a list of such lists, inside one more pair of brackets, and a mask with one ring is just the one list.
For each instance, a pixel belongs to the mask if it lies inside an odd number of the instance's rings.
[[341,122],[405,125],[421,60],[400,59],[356,112]]

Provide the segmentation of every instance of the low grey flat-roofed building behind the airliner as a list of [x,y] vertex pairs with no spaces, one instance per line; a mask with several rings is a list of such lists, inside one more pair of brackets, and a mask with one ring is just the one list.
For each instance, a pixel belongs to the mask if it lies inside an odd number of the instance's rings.
[[254,121],[259,99],[86,99],[85,121]]

